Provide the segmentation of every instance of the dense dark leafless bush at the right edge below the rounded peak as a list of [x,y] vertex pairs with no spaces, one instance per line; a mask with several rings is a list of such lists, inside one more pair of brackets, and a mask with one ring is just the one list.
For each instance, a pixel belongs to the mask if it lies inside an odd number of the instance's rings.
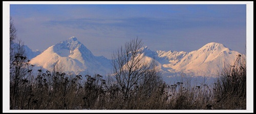
[[234,64],[225,64],[214,85],[216,109],[246,109],[246,60],[238,55]]

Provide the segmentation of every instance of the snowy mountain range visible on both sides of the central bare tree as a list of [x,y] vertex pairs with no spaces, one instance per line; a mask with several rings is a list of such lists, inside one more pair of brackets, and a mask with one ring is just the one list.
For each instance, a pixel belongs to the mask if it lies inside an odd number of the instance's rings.
[[[155,60],[158,70],[164,77],[173,77],[180,73],[189,76],[216,77],[224,61],[234,63],[237,55],[240,54],[216,42],[207,43],[199,50],[192,52],[155,52],[148,47],[143,47],[142,50],[146,54],[145,60],[148,62]],[[59,63],[65,72],[80,75],[111,74],[111,60],[103,56],[94,56],[76,37],[70,37],[52,45],[43,52],[28,52],[28,56],[32,58],[31,64],[47,70],[52,69],[53,63]]]

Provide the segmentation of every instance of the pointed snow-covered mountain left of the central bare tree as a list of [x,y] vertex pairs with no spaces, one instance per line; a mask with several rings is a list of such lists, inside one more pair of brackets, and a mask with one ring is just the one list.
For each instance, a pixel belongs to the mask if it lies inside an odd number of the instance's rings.
[[111,60],[103,56],[94,56],[76,37],[70,37],[52,45],[40,55],[31,59],[31,64],[42,66],[44,69],[53,69],[57,63],[63,72],[85,74],[108,74],[111,69]]

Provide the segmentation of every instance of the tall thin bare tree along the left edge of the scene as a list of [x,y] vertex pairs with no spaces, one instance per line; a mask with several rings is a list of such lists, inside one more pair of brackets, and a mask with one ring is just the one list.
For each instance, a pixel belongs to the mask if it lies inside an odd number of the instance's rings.
[[[20,89],[27,82],[29,60],[26,57],[24,44],[17,40],[16,28],[10,17],[10,109],[19,109]],[[16,42],[17,40],[17,42]]]

